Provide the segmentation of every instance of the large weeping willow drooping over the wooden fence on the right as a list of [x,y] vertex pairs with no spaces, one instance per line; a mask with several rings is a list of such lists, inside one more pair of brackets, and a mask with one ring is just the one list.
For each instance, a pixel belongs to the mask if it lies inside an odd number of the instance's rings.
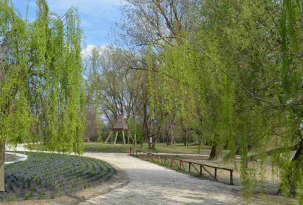
[[[217,153],[241,155],[247,199],[253,182],[264,183],[270,155],[278,192],[303,203],[301,11],[293,0],[203,1],[198,29],[171,37],[149,82],[154,106],[155,93],[165,96],[168,111],[175,104],[187,123],[199,119]],[[252,153],[260,167],[248,165]]]

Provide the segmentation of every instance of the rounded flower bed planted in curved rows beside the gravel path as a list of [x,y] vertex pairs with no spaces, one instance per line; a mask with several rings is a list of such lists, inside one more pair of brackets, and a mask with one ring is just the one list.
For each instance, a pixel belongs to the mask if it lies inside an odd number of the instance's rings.
[[55,198],[105,181],[115,173],[109,164],[86,157],[26,153],[28,159],[5,166],[0,201]]

